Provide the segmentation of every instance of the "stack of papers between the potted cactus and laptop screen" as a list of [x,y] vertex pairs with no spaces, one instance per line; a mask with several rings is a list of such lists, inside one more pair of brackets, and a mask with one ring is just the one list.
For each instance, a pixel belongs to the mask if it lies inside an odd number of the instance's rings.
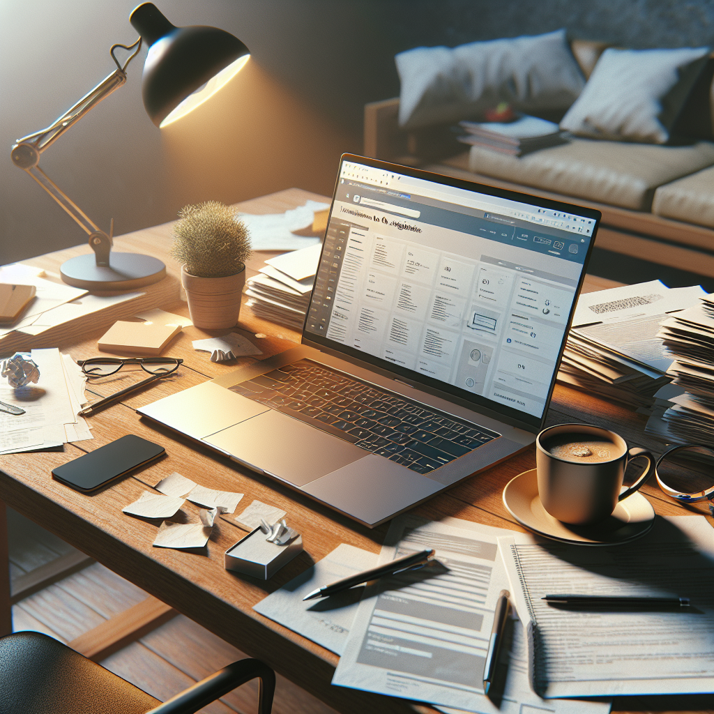
[[258,275],[248,278],[248,307],[257,317],[301,330],[308,311],[322,246],[266,261]]

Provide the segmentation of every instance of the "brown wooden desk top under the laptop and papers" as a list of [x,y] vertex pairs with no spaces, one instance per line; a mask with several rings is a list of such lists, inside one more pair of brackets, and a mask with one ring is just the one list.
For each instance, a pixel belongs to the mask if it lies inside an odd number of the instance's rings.
[[[274,213],[301,205],[307,198],[326,200],[306,191],[289,189],[246,201],[238,204],[238,208],[248,213]],[[119,250],[141,251],[166,261],[169,273],[176,278],[178,265],[168,258],[170,243],[169,223],[136,231],[115,240]],[[28,262],[57,271],[66,258],[86,251],[88,248],[71,248]],[[249,273],[256,271],[265,257],[265,254],[256,255],[248,266]],[[588,280],[587,287],[598,289],[611,284],[592,278]],[[188,315],[186,303],[162,307]],[[300,339],[295,331],[258,320],[247,309],[241,313],[239,328],[263,350],[264,356],[283,351]],[[255,333],[264,333],[268,337],[255,338]],[[377,552],[386,533],[386,526],[374,530],[359,526],[273,481],[241,471],[227,458],[139,418],[134,411],[139,406],[253,362],[253,358],[239,358],[228,364],[211,363],[206,353],[196,352],[191,346],[191,340],[208,334],[196,328],[186,328],[167,351],[167,354],[184,360],[176,376],[90,417],[94,431],[94,439],[91,441],[67,444],[62,453],[1,456],[2,498],[24,516],[40,523],[244,652],[268,663],[340,712],[433,712],[431,708],[405,700],[332,687],[330,681],[338,660],[336,655],[252,610],[252,605],[267,593],[295,577],[314,560],[323,558],[339,543],[351,543]],[[75,359],[96,356],[99,336],[101,331],[88,334],[83,341],[57,346]],[[106,383],[92,384],[90,389],[98,395],[106,395],[132,380],[135,381],[136,376],[119,373]],[[643,419],[634,413],[558,386],[548,422],[561,421],[607,423],[623,433],[630,445],[646,445],[655,451],[661,451],[662,448],[661,443],[644,437]],[[50,471],[55,466],[126,433],[136,433],[161,443],[166,447],[166,458],[94,496],[76,493],[51,479]],[[429,518],[456,516],[491,526],[520,530],[503,507],[501,491],[510,478],[534,466],[535,456],[531,449],[433,498],[418,507],[416,512]],[[245,493],[243,504],[247,505],[253,498],[257,498],[287,511],[291,526],[303,534],[305,552],[266,583],[224,570],[224,551],[244,535],[244,531],[225,519],[221,519],[214,529],[206,555],[152,548],[156,526],[138,518],[124,516],[121,508],[138,498],[146,486],[154,486],[173,471],[211,488]],[[686,512],[668,501],[656,486],[645,486],[644,493],[658,513]],[[188,513],[195,516],[195,510],[194,506],[186,503]],[[665,702],[662,698],[633,703],[629,698],[618,700],[615,709],[633,706],[642,710],[643,706],[681,709],[683,706],[703,708],[705,705],[688,698],[678,698],[676,704],[669,700]]]

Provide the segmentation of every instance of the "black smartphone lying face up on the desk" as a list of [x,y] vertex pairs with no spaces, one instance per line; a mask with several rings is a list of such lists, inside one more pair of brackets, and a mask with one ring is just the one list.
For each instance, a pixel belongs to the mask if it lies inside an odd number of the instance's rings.
[[105,483],[163,456],[166,449],[141,436],[127,434],[74,461],[52,469],[52,476],[76,491],[96,491]]

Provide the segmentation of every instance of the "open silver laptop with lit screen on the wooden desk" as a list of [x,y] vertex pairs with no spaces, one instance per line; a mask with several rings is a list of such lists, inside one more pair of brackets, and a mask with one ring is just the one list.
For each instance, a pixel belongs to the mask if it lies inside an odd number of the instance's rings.
[[378,526],[535,441],[599,219],[345,154],[301,345],[138,411]]

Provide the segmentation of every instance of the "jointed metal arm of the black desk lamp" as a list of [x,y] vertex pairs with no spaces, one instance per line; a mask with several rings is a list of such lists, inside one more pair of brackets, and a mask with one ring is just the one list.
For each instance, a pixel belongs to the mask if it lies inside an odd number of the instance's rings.
[[[136,47],[136,51],[129,56],[124,66],[121,66],[114,56],[114,50],[117,47],[122,47],[127,50]],[[76,124],[88,111],[94,109],[100,101],[106,99],[112,92],[119,89],[119,87],[126,82],[126,67],[129,65],[129,62],[134,59],[136,54],[139,53],[140,49],[141,37],[134,42],[134,44],[129,46],[121,44],[113,45],[109,50],[109,54],[111,54],[111,59],[113,59],[116,64],[116,70],[46,129],[36,131],[34,134],[29,134],[22,139],[18,139],[13,145],[10,154],[13,164],[34,178],[34,180],[79,223],[82,230],[89,233],[89,246],[94,253],[96,253],[96,264],[98,266],[109,267],[109,253],[113,242],[114,220],[112,220],[109,234],[101,231],[99,226],[97,226],[54,181],[51,181],[49,176],[40,169],[38,164],[40,154],[45,151],[45,149],[49,148],[51,144],[54,144],[67,129]]]

